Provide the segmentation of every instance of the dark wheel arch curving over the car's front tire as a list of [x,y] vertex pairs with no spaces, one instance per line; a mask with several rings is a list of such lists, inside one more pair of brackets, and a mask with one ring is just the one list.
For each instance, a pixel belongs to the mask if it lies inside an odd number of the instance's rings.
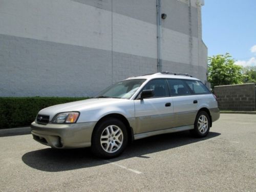
[[134,140],[133,128],[131,127],[129,121],[123,115],[118,114],[118,113],[112,113],[112,114],[108,114],[108,115],[101,117],[101,119],[99,119],[98,122],[94,126],[92,138],[94,135],[95,127],[97,127],[98,124],[100,124],[105,119],[109,119],[109,118],[119,119],[124,123],[126,130],[127,130],[127,134],[128,134],[128,143],[132,143],[132,141]]

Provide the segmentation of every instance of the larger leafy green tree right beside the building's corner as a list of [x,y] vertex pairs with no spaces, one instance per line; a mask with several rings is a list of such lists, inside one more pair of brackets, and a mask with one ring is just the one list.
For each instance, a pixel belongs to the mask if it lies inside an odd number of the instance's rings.
[[243,83],[242,66],[234,65],[229,53],[208,57],[208,81],[214,86]]

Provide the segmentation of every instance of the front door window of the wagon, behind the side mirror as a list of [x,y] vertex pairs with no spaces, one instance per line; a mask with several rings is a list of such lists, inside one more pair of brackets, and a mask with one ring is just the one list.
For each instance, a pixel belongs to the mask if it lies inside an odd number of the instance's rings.
[[169,97],[165,79],[153,79],[145,85],[143,90],[153,90],[153,97]]

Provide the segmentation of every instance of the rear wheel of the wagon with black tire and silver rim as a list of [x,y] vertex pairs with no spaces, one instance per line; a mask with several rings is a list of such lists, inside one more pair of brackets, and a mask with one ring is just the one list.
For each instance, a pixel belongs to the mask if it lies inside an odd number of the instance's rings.
[[210,118],[208,113],[200,111],[197,114],[194,130],[190,130],[190,133],[195,137],[205,137],[210,130]]

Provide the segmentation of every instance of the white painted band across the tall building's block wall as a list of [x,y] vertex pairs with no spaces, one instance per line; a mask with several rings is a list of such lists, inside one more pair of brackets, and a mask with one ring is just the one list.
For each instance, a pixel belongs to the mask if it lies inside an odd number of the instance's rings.
[[[1,0],[0,34],[112,50],[112,12],[69,0]],[[189,63],[189,36],[163,28],[163,59]],[[156,25],[113,13],[113,51],[157,58]],[[197,65],[198,38],[193,37]]]

